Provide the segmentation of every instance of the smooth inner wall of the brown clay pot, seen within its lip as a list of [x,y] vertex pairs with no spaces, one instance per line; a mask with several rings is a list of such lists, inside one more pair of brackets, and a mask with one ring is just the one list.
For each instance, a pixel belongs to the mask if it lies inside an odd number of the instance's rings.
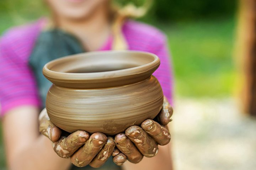
[[155,57],[144,53],[98,53],[73,56],[55,62],[50,70],[62,73],[97,73],[134,68],[151,63]]

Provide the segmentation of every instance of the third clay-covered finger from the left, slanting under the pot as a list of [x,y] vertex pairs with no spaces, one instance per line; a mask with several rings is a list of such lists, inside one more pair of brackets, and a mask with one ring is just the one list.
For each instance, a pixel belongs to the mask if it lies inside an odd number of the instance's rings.
[[88,165],[97,153],[100,152],[106,141],[106,135],[100,132],[92,134],[89,140],[85,142],[84,146],[78,149],[78,151],[71,156],[71,162],[78,167]]

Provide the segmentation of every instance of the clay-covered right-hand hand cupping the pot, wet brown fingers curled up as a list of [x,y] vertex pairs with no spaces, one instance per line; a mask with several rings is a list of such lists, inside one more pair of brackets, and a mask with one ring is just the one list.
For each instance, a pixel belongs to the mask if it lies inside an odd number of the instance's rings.
[[[166,145],[170,142],[171,135],[167,128],[167,124],[171,121],[172,107],[166,98],[161,112],[156,117],[158,122],[154,120],[145,120],[140,127],[130,126],[125,134],[117,134],[115,137],[116,147],[126,155],[131,163],[139,163],[143,155],[145,157],[154,157],[158,152],[158,145]],[[118,150],[116,149],[116,150]],[[116,151],[115,152],[118,152]],[[117,165],[122,165],[126,161],[126,157],[113,155],[113,161]]]

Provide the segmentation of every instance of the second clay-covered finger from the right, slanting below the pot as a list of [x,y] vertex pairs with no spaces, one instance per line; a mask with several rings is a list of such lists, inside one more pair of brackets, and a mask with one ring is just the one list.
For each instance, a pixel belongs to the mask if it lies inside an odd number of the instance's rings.
[[141,124],[142,129],[151,136],[159,145],[166,145],[171,140],[170,132],[154,120],[145,120]]

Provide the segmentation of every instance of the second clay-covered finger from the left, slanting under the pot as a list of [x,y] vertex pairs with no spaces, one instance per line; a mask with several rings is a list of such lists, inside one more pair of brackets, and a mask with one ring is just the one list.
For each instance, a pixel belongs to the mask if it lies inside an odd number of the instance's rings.
[[78,130],[68,137],[62,137],[61,140],[53,144],[54,151],[62,158],[69,158],[78,148],[80,148],[89,139],[86,131]]

